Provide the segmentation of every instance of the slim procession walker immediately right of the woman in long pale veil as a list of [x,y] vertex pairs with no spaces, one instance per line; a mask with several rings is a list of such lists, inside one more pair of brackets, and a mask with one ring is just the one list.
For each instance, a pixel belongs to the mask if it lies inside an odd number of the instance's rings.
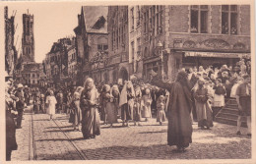
[[141,126],[141,118],[142,118],[142,91],[139,85],[135,87],[135,97],[134,97],[134,110],[133,110],[133,118],[134,118],[134,126]]

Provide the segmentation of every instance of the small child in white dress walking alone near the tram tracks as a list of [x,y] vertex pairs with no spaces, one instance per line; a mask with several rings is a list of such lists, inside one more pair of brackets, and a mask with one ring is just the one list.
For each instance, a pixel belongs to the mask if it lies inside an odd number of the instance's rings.
[[49,95],[46,97],[45,104],[47,104],[47,114],[49,114],[50,118],[49,120],[53,119],[53,116],[55,115],[55,105],[57,103],[57,100],[54,96],[53,90],[49,90]]

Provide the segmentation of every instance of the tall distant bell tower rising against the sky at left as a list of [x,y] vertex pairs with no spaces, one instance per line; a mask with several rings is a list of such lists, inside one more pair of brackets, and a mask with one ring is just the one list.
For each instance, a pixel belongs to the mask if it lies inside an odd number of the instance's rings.
[[33,16],[29,14],[23,15],[23,62],[34,62],[34,40],[33,40]]

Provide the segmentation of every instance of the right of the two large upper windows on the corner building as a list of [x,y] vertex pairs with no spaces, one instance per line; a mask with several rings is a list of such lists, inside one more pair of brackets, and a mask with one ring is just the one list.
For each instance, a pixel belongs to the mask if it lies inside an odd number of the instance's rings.
[[237,5],[222,5],[222,33],[237,34]]

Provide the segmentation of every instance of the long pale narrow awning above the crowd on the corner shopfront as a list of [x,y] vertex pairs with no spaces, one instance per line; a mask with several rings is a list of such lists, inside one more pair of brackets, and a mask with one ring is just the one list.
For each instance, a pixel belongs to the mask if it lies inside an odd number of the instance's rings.
[[195,52],[183,51],[185,57],[208,57],[208,58],[251,58],[250,53],[218,53],[218,52]]

